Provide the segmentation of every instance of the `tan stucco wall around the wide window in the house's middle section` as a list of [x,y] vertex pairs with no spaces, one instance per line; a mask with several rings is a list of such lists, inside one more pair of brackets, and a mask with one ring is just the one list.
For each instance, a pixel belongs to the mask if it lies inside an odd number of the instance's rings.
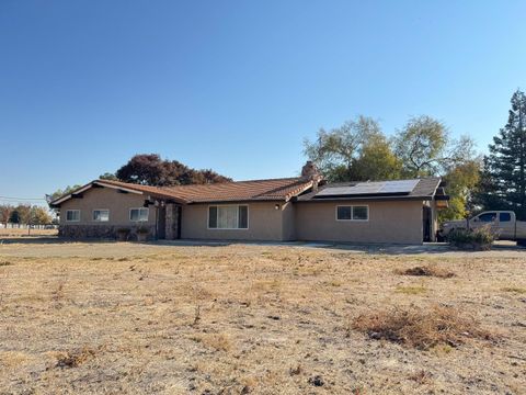
[[181,237],[188,239],[282,240],[283,214],[281,210],[275,208],[276,203],[249,203],[248,229],[208,229],[208,204],[183,205]]

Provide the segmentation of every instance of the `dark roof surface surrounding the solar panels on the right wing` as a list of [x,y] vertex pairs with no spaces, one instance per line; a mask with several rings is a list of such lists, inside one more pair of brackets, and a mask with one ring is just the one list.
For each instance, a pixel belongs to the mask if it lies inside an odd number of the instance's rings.
[[[408,180],[409,181],[409,180]],[[366,193],[357,195],[325,195],[317,196],[318,193],[327,188],[354,187],[357,182],[331,183],[320,187],[318,191],[312,191],[297,198],[298,202],[327,202],[342,200],[431,200],[435,195],[442,179],[439,177],[427,177],[418,179],[418,183],[409,193]],[[363,182],[359,182],[363,183]]]

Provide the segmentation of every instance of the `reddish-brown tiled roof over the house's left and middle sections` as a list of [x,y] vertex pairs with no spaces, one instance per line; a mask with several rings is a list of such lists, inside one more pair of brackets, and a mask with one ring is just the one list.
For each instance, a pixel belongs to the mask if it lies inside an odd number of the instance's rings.
[[236,201],[288,201],[312,187],[312,181],[306,181],[301,178],[285,178],[211,184],[149,187],[112,180],[94,180],[69,194],[56,199],[52,202],[52,205],[60,205],[76,194],[81,194],[91,188],[98,187],[172,199],[182,204],[192,204]]

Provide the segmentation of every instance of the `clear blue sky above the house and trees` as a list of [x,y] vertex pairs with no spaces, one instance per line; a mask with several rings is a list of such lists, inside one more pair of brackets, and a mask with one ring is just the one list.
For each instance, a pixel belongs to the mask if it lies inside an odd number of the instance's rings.
[[[358,114],[485,150],[526,89],[524,1],[0,1],[0,196],[159,153],[288,177]],[[0,198],[1,202],[1,198]]]

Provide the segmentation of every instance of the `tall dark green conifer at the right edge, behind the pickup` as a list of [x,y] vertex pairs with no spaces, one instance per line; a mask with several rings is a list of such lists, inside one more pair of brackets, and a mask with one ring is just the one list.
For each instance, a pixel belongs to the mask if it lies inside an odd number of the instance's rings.
[[526,219],[526,95],[513,93],[506,125],[484,157],[477,202],[484,210],[513,210]]

